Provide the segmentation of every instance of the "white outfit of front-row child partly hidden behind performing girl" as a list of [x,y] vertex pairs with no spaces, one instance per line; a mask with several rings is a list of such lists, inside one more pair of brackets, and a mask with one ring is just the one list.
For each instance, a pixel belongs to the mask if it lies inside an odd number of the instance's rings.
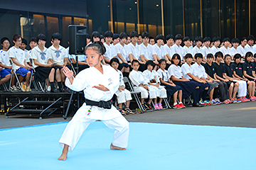
[[[123,86],[125,88],[123,74],[118,69],[117,69],[117,72],[119,74],[119,86]],[[132,100],[131,92],[128,91],[127,89],[124,89],[123,91],[117,90],[114,94],[117,95],[117,103],[125,103],[126,101]]]

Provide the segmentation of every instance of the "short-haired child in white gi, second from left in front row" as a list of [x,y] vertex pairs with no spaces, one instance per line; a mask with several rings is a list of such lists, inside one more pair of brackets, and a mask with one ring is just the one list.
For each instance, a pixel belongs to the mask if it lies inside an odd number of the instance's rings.
[[[141,97],[141,103],[144,108],[144,110],[149,109],[151,110],[150,103],[151,101],[156,98],[156,90],[149,86],[148,79],[144,78],[144,75],[142,72],[138,71],[139,69],[139,61],[133,60],[132,61],[132,72],[129,74],[129,79],[132,81],[132,84],[134,85],[134,91],[139,91],[142,94]],[[148,98],[149,101],[147,103],[144,103],[145,98]]]

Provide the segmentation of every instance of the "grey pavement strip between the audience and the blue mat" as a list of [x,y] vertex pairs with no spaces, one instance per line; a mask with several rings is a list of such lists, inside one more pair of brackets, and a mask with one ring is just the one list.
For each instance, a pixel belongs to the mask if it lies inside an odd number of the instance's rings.
[[[256,102],[233,103],[228,105],[205,106],[184,109],[151,111],[137,115],[125,115],[129,122],[171,123],[179,125],[214,125],[256,128]],[[38,119],[38,116],[14,115],[6,118],[0,115],[0,129],[28,125],[68,122],[60,117]]]

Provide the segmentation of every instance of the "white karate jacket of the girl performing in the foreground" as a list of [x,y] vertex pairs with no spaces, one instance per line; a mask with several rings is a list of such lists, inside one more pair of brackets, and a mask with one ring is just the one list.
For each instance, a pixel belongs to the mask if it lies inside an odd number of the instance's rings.
[[[109,101],[119,88],[119,74],[110,66],[103,65],[103,74],[95,67],[83,69],[73,79],[73,84],[69,79],[65,79],[65,85],[73,91],[83,91],[85,98],[91,101]],[[101,91],[93,86],[102,84],[109,91]],[[95,120],[110,120],[122,116],[114,106],[110,109],[99,108],[97,106],[87,106],[86,103],[80,109],[85,111],[85,118]],[[90,113],[87,111],[90,110]]]

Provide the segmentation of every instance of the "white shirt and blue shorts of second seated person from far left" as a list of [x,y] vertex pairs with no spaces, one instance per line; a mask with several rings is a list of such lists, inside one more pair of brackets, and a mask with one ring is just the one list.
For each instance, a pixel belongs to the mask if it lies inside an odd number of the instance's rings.
[[[26,55],[25,55],[25,52],[23,50],[21,50],[20,48],[16,48],[14,46],[11,47],[8,50],[8,55],[10,58],[15,58],[15,60],[17,62],[19,62],[20,64],[25,66],[24,62],[26,60]],[[12,67],[14,69],[14,72],[16,72],[17,74],[21,74],[22,77],[25,77],[28,72],[32,72],[32,69],[31,70],[25,69],[23,67],[19,67],[18,65],[14,64],[14,63],[13,63]]]

